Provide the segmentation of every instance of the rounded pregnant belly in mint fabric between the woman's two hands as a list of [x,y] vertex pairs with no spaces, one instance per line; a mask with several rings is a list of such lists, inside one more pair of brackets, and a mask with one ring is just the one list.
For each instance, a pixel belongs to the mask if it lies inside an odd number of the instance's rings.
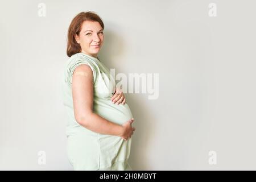
[[129,105],[113,104],[112,101],[102,98],[94,98],[93,111],[102,118],[108,119],[119,125],[122,125],[133,118]]

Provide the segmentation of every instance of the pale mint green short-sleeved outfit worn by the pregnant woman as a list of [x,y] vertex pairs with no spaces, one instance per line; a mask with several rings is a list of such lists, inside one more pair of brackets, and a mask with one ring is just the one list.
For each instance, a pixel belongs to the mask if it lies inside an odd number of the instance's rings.
[[[114,78],[110,70],[95,57],[84,53],[71,56],[64,66],[63,101],[68,114],[67,152],[75,170],[131,170],[131,138],[95,133],[79,125],[75,119],[72,100],[72,75],[75,69],[86,64],[93,72],[93,112],[108,121],[122,125],[133,118],[127,104],[113,104]],[[112,79],[110,79],[112,77]],[[93,121],[91,121],[93,122]]]

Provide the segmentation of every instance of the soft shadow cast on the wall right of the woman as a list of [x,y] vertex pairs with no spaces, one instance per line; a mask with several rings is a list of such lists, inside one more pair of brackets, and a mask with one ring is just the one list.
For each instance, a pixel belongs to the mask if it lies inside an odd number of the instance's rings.
[[[121,27],[117,27],[112,23],[108,23],[108,26],[112,30],[121,30]],[[122,36],[115,34],[112,30],[104,30],[104,46],[99,53],[100,61],[106,65],[106,67],[115,68],[115,75],[121,71],[127,71],[122,67],[123,56],[126,55],[128,49],[127,43]],[[129,54],[129,52],[127,52]],[[118,63],[117,63],[118,60]],[[124,63],[124,65],[128,65]],[[128,77],[128,74],[126,75]],[[116,81],[119,82],[119,81]],[[154,112],[148,110],[146,107],[147,94],[129,94],[125,93],[126,103],[129,105],[134,117],[133,126],[136,127],[132,138],[131,154],[129,163],[133,170],[146,170],[149,165],[147,163],[147,151],[150,148],[150,140],[154,138],[154,129],[151,122],[154,119]]]

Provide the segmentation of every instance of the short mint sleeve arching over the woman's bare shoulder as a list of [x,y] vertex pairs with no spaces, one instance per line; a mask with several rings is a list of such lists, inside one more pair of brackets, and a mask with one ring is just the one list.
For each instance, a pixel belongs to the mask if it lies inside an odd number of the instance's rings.
[[67,67],[66,67],[66,70],[65,70],[65,82],[67,82],[69,86],[72,85],[72,76],[73,76],[73,73],[74,73],[75,69],[79,65],[82,65],[82,64],[89,65],[90,69],[92,69],[92,72],[93,72],[93,84],[95,83],[96,76],[97,76],[96,65],[91,63],[91,61],[89,61],[89,60],[81,60],[81,59],[80,60],[68,60]]

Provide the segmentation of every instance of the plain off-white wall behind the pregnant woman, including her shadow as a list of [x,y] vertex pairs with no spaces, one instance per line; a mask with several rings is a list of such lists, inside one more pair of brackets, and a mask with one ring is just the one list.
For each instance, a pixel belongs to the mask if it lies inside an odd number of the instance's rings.
[[[212,2],[216,17],[208,14]],[[126,94],[134,170],[255,170],[255,5],[1,0],[0,169],[72,170],[61,96],[67,30],[76,14],[92,10],[105,23],[105,65],[116,74],[159,73],[157,100]],[[212,150],[216,165],[208,162]]]

